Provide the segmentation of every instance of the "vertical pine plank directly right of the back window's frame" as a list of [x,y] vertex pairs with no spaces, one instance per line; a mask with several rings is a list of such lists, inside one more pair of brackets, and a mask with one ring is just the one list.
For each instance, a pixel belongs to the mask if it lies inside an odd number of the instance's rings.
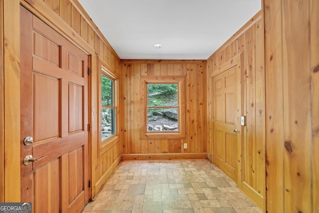
[[186,75],[186,123],[187,127],[187,149],[185,152],[194,152],[194,65],[187,64],[187,75]]

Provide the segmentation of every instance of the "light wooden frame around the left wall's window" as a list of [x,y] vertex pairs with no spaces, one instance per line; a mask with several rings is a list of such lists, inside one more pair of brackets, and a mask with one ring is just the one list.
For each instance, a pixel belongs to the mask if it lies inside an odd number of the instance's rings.
[[[98,112],[98,119],[97,119],[97,132],[98,132],[98,155],[101,156],[105,153],[110,147],[112,147],[115,143],[120,140],[120,118],[119,118],[119,77],[111,72],[108,68],[106,63],[104,63],[101,59],[99,60],[99,71],[97,76],[97,112]],[[107,78],[113,81],[113,106],[110,108],[115,109],[115,134],[106,138],[102,141],[102,74]]]

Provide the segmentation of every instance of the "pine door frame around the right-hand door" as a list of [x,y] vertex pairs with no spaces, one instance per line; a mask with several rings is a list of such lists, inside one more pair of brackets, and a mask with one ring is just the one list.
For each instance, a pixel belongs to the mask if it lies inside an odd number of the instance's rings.
[[[239,69],[240,69],[240,82],[237,84],[237,90],[240,90],[240,94],[237,93],[237,102],[238,100],[240,100],[240,112],[237,112],[237,129],[240,130],[239,131],[239,136],[237,138],[240,138],[240,144],[238,144],[238,140],[237,140],[237,155],[236,155],[236,173],[235,177],[237,179],[237,185],[238,188],[241,188],[241,183],[243,180],[243,166],[244,166],[244,156],[242,155],[242,153],[244,153],[244,136],[245,136],[245,131],[244,131],[244,126],[240,125],[240,116],[244,115],[243,113],[243,109],[244,109],[244,85],[243,85],[243,56],[242,56],[242,52],[235,55],[233,58],[231,58],[230,60],[228,60],[227,62],[225,62],[222,66],[220,66],[215,72],[212,72],[209,75],[209,86],[211,88],[211,105],[209,106],[209,109],[211,111],[211,131],[213,131],[213,78],[221,73],[223,73],[224,71],[226,71],[227,69],[230,69],[234,66],[239,65]],[[240,128],[239,128],[240,127]],[[213,136],[213,132],[210,135],[210,141],[212,142],[211,144],[211,162],[213,162],[213,155],[214,155],[214,150],[213,150],[213,143],[214,143],[214,136]]]

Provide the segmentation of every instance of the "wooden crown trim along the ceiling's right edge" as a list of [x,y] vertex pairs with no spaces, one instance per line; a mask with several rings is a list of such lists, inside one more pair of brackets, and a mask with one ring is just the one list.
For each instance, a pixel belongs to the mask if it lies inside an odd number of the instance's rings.
[[230,43],[239,38],[250,27],[252,27],[258,20],[262,18],[262,10],[259,10],[249,21],[247,21],[234,35],[232,35],[223,45],[221,45],[211,56],[207,58],[207,61],[211,60],[217,53],[227,47]]

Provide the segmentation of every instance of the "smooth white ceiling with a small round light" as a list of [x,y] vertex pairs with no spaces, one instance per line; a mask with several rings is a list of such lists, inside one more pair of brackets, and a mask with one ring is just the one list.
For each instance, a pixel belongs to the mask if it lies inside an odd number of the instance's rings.
[[261,9],[261,0],[78,1],[121,59],[207,59]]

